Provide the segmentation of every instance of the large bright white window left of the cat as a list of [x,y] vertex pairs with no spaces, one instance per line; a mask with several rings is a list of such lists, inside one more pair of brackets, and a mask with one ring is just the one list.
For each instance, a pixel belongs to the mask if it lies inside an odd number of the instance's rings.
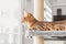
[[0,0],[0,44],[21,44],[20,2],[20,0]]

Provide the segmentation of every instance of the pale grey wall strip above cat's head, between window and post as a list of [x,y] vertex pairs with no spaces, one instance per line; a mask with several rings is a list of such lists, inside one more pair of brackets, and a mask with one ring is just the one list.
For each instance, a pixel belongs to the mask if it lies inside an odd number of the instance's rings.
[[34,11],[34,0],[24,0],[24,11],[33,13]]

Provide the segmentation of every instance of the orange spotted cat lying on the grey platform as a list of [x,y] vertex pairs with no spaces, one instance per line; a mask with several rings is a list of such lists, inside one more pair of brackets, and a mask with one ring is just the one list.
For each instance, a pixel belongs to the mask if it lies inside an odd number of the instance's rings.
[[66,20],[56,21],[56,22],[45,22],[36,20],[33,14],[26,12],[22,22],[26,23],[29,30],[40,30],[40,31],[65,31],[66,30]]

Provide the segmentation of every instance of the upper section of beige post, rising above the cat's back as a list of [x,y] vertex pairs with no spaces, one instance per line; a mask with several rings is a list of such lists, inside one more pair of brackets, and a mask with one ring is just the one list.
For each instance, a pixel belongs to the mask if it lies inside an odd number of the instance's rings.
[[44,20],[44,0],[34,0],[34,15],[37,20]]

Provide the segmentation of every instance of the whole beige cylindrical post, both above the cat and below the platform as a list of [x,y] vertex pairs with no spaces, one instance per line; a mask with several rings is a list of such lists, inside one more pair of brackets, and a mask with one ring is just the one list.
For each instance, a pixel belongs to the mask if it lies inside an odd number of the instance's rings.
[[[44,0],[34,0],[34,16],[44,20]],[[43,36],[34,36],[34,44],[44,44]]]

